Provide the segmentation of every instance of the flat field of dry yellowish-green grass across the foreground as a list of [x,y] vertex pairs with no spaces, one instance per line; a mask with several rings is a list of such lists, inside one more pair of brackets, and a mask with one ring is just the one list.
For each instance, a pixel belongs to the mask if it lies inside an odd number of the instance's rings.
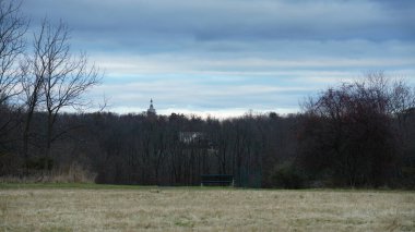
[[0,230],[415,231],[415,193],[0,184]]

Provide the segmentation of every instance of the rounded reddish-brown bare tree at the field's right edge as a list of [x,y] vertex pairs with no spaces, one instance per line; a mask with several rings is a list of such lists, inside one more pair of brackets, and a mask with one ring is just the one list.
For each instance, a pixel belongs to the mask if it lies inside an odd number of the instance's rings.
[[410,89],[377,72],[306,102],[301,154],[310,173],[325,170],[351,186],[384,184],[399,159],[394,120],[412,106]]

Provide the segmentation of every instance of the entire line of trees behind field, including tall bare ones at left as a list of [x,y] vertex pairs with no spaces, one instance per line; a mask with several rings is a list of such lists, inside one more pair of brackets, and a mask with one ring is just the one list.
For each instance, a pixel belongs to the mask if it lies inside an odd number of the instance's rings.
[[[0,179],[240,187],[415,186],[415,89],[382,72],[323,89],[301,112],[202,119],[173,113],[66,113],[100,82],[68,27],[28,21],[0,1]],[[54,179],[67,176],[67,179]]]

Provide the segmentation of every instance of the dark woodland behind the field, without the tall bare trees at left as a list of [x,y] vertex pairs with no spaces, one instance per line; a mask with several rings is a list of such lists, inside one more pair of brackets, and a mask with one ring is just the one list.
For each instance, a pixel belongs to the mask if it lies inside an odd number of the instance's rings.
[[48,115],[36,111],[27,157],[27,112],[3,103],[1,174],[44,178],[76,164],[96,183],[199,185],[202,174],[233,174],[246,187],[413,187],[410,90],[377,74],[327,89],[304,102],[303,113],[284,117],[60,113],[49,152]]

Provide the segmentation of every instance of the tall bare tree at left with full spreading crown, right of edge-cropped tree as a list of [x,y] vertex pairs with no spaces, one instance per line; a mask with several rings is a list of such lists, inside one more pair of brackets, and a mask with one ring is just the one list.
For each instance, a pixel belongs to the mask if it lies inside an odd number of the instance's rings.
[[98,71],[90,65],[85,53],[71,53],[67,25],[60,22],[55,26],[47,20],[35,35],[31,63],[35,80],[40,81],[42,99],[38,100],[47,113],[46,158],[50,158],[51,144],[62,134],[54,134],[59,112],[67,107],[79,109],[87,105],[82,96],[98,84]]

